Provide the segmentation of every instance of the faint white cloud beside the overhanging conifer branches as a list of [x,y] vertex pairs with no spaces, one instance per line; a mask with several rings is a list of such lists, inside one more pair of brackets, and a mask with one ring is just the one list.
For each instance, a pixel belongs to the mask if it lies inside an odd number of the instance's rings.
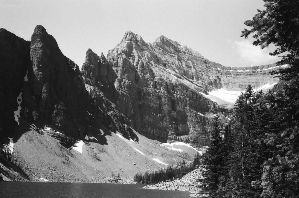
[[252,45],[248,40],[234,41],[234,48],[241,60],[248,65],[265,65],[279,60],[277,57],[269,55],[268,48],[260,49],[259,46]]

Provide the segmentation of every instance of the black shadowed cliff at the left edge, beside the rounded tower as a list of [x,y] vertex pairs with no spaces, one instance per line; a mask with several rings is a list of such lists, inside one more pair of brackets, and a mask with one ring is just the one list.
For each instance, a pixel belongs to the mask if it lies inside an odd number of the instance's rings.
[[0,29],[0,136],[18,123],[17,98],[22,92],[26,70],[30,65],[30,42]]

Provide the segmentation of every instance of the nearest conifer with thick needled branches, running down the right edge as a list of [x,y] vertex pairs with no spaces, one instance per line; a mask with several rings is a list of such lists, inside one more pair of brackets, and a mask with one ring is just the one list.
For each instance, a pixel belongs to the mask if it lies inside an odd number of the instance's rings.
[[268,97],[273,119],[262,138],[273,157],[263,164],[263,197],[298,197],[299,154],[299,1],[264,0],[266,10],[258,10],[245,25],[252,27],[241,36],[254,33],[254,45],[275,44],[270,55],[286,53],[278,64],[289,67],[273,71],[285,82],[283,90]]

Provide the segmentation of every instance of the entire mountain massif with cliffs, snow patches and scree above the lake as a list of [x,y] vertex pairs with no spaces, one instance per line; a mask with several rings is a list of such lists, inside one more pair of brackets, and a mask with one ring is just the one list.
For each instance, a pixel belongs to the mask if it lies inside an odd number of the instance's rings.
[[239,94],[274,87],[269,72],[284,66],[225,67],[131,31],[97,53],[88,49],[80,69],[41,25],[31,41],[0,29],[0,145],[12,158],[0,163],[3,180],[132,182],[190,163],[214,117],[225,125]]

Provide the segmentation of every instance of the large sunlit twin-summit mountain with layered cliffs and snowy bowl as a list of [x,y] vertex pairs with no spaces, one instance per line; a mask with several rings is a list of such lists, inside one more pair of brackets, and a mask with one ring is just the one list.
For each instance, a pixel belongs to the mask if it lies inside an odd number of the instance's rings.
[[278,81],[269,75],[276,65],[239,71],[165,36],[151,44],[131,31],[109,50],[107,60],[117,75],[120,112],[135,130],[162,142],[207,144],[214,116],[227,122],[235,99],[248,84],[260,88]]

